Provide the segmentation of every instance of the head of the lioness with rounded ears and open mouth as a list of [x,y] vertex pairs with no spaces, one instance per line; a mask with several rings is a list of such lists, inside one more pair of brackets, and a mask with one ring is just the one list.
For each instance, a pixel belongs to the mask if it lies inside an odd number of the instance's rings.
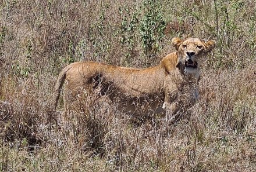
[[184,71],[189,74],[197,74],[200,65],[205,61],[205,56],[215,47],[215,41],[204,41],[198,38],[182,40],[173,38],[172,45],[179,54],[180,63],[185,67]]

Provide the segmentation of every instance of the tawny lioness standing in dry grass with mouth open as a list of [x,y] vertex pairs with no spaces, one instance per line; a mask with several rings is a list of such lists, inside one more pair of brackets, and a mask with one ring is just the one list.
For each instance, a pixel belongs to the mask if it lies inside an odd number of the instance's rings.
[[55,85],[54,108],[66,80],[65,92],[70,92],[72,97],[97,92],[99,97],[107,96],[112,101],[120,101],[119,105],[125,103],[125,111],[129,111],[132,105],[140,104],[152,111],[161,106],[170,113],[177,112],[184,87],[191,89],[189,97],[193,100],[197,98],[194,84],[198,82],[201,64],[215,47],[215,41],[173,38],[172,45],[177,52],[168,54],[159,65],[150,68],[125,68],[93,61],[67,65]]

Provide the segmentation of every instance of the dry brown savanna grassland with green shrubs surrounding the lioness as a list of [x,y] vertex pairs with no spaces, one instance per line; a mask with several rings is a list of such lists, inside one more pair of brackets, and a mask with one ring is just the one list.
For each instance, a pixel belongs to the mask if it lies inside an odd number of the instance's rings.
[[[175,36],[216,41],[189,118],[51,114],[66,65],[150,67]],[[255,98],[254,0],[0,1],[0,171],[256,171]]]

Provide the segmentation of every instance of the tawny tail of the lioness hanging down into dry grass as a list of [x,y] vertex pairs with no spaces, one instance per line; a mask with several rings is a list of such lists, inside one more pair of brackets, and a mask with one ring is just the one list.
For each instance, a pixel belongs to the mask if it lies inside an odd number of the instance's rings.
[[67,71],[69,71],[70,68],[72,68],[72,65],[67,65],[64,69],[62,69],[62,71],[59,74],[58,79],[56,81],[56,85],[54,88],[54,111],[58,105],[59,96],[61,94],[61,88],[66,79],[66,73],[67,73]]

